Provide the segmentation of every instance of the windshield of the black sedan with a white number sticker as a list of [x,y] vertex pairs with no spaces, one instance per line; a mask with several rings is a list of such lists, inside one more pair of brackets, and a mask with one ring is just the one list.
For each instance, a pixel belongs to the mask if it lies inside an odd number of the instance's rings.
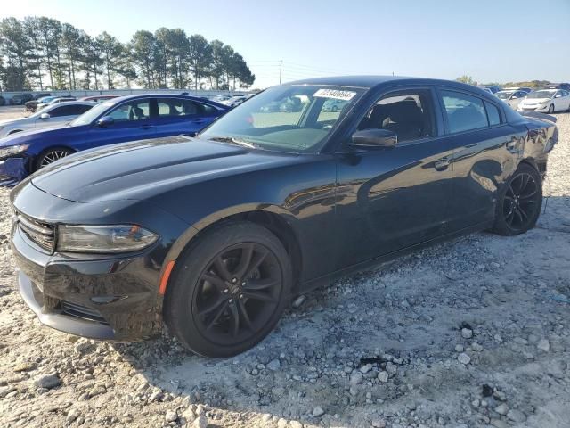
[[[199,137],[279,152],[317,152],[362,92],[352,87],[275,86],[226,113]],[[330,107],[333,100],[336,109]]]

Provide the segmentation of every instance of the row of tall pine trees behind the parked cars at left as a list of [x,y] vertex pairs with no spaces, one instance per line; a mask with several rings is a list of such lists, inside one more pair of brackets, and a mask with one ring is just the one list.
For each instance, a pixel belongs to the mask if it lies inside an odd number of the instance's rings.
[[0,21],[4,91],[145,88],[244,89],[255,76],[231,45],[183,29],[136,31],[128,43],[47,17]]

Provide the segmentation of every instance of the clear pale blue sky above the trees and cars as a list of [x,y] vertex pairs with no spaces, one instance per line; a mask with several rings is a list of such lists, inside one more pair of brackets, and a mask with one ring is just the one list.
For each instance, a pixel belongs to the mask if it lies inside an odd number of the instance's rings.
[[181,28],[240,52],[256,87],[338,74],[570,81],[570,0],[4,0],[122,42]]

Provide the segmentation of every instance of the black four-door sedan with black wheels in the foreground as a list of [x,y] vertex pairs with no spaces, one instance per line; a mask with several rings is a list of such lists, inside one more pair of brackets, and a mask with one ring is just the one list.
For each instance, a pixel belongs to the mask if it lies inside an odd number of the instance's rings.
[[[264,109],[291,97],[300,111]],[[558,140],[534,116],[457,82],[317,78],[195,138],[79,152],[12,191],[20,293],[64,332],[126,341],[166,322],[201,355],[237,354],[334,276],[532,228]]]

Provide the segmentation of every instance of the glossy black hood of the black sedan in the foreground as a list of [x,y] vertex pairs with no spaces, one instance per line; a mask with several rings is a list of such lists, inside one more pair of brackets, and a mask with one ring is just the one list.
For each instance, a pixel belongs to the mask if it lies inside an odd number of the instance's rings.
[[31,177],[40,190],[73,202],[144,200],[185,185],[290,162],[297,156],[187,136],[78,152]]

